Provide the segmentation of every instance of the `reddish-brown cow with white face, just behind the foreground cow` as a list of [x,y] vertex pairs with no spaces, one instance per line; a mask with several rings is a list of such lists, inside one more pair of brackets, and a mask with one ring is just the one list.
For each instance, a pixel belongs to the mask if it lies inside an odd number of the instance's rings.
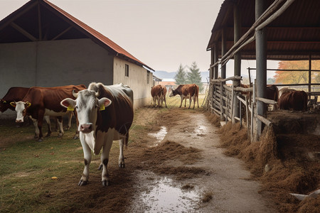
[[[59,136],[63,136],[62,117],[69,113],[64,107],[60,106],[60,102],[67,98],[73,97],[73,90],[80,91],[85,89],[85,85],[68,85],[62,87],[31,87],[27,94],[19,102],[11,102],[11,106],[16,110],[16,123],[22,123],[23,117],[31,116],[36,126],[36,138],[38,141],[43,141],[42,123],[43,118],[48,116],[57,116],[60,129]],[[58,102],[58,104],[57,104]],[[48,122],[48,121],[47,121]],[[48,123],[50,127],[50,120]],[[48,129],[47,136],[50,136]],[[75,138],[77,137],[77,133]]]

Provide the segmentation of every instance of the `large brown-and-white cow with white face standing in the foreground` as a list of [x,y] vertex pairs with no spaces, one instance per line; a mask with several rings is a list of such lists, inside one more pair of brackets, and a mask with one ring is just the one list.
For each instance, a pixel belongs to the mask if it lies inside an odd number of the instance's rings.
[[107,164],[112,141],[119,140],[119,168],[124,168],[123,146],[127,146],[134,117],[132,89],[124,84],[105,86],[92,82],[87,89],[74,92],[74,97],[75,100],[63,99],[60,104],[75,108],[78,115],[78,131],[85,158],[85,168],[78,185],[87,185],[91,151],[97,155],[102,149],[102,185],[108,186]]

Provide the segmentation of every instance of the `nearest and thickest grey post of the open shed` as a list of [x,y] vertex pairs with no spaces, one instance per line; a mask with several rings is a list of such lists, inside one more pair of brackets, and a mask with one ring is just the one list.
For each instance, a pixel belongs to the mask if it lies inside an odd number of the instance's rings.
[[[255,20],[259,18],[266,9],[266,1],[255,0]],[[256,32],[255,57],[257,67],[257,97],[265,98],[267,88],[267,32],[265,28]],[[267,107],[263,102],[257,101],[257,114],[265,116]],[[262,133],[262,122],[257,119],[257,132],[255,140],[259,140]]]

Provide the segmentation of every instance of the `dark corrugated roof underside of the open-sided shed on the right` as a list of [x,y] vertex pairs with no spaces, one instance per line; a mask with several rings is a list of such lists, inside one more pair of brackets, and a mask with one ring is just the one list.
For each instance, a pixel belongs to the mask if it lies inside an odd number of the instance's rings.
[[[276,0],[267,1],[267,7]],[[221,58],[221,33],[225,29],[227,51],[234,44],[233,6],[237,6],[241,16],[242,35],[255,23],[255,0],[225,0],[215,20],[207,50],[218,46]],[[267,25],[268,60],[320,59],[320,1],[296,0],[289,8]],[[242,59],[255,59],[255,42],[241,50]]]

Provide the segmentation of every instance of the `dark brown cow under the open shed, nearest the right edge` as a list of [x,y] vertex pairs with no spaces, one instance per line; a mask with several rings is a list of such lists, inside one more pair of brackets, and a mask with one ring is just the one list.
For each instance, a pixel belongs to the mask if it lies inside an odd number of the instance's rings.
[[285,92],[279,98],[279,109],[306,111],[308,95],[304,91]]

